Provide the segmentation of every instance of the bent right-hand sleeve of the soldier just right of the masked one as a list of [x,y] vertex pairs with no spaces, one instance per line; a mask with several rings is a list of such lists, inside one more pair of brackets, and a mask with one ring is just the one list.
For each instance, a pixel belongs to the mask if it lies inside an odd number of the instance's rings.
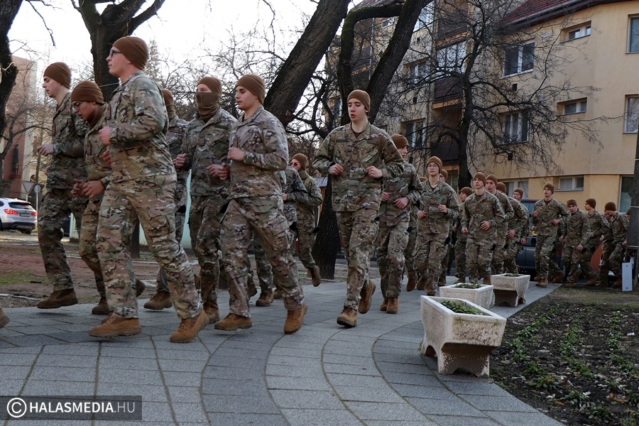
[[288,165],[288,141],[284,127],[275,117],[264,122],[262,141],[266,153],[244,151],[244,164],[263,170],[285,170]]

